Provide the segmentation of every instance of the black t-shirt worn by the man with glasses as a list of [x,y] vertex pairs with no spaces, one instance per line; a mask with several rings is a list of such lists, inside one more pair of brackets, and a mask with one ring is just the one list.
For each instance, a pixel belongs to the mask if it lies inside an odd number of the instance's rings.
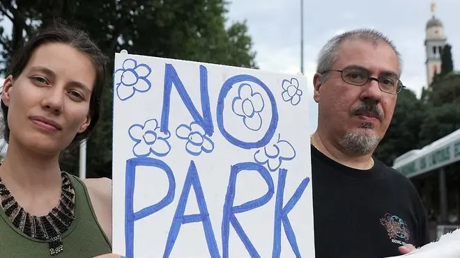
[[316,258],[401,255],[398,247],[429,243],[427,217],[411,181],[375,160],[356,170],[312,146]]

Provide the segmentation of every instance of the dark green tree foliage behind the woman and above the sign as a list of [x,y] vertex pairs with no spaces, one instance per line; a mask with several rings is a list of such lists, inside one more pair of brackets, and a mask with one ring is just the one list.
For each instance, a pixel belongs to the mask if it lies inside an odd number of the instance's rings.
[[[256,67],[247,25],[225,27],[223,0],[51,0],[1,1],[0,19],[13,23],[12,35],[0,27],[4,66],[34,31],[56,17],[80,24],[111,58],[126,49],[132,54]],[[4,72],[4,71],[3,71]],[[87,147],[88,176],[107,174],[112,162],[112,73],[107,74],[102,118]],[[78,147],[62,154],[69,172],[78,170]],[[99,175],[96,175],[100,171]]]

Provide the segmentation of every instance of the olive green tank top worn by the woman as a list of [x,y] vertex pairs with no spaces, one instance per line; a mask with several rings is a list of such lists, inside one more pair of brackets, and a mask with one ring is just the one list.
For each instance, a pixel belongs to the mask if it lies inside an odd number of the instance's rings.
[[0,208],[1,258],[92,258],[112,252],[112,245],[96,219],[86,186],[78,177],[70,174],[68,177],[75,188],[75,220],[61,236],[63,251],[50,255],[47,241],[22,233]]

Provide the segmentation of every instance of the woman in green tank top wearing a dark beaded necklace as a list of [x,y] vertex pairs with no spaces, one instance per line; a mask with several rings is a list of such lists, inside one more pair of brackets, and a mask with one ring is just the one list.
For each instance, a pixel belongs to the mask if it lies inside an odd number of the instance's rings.
[[98,122],[106,58],[82,31],[54,25],[15,53],[3,83],[0,257],[119,257],[112,182],[82,181],[59,154]]

